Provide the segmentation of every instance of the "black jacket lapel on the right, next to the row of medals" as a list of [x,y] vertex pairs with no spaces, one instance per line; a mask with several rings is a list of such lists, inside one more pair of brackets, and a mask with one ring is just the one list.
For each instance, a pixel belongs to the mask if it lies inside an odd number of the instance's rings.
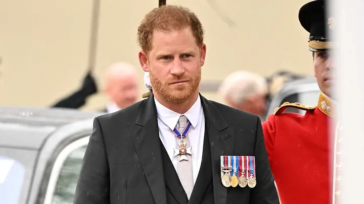
[[205,128],[211,153],[212,182],[215,204],[225,204],[228,188],[221,183],[220,156],[233,155],[234,129],[226,124],[215,105],[200,95],[205,114]]

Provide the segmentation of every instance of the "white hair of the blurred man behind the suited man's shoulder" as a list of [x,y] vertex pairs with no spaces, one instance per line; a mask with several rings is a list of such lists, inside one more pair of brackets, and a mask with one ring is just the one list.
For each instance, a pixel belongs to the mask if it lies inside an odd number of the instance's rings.
[[249,97],[266,94],[267,84],[260,75],[238,71],[223,80],[218,92],[224,99],[229,96],[233,103],[241,104]]

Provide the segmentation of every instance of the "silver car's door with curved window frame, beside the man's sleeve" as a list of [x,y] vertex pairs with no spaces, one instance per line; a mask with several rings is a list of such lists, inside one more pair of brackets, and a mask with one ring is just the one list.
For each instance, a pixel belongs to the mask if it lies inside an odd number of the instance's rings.
[[27,204],[73,203],[93,119],[55,130],[38,155],[31,195]]

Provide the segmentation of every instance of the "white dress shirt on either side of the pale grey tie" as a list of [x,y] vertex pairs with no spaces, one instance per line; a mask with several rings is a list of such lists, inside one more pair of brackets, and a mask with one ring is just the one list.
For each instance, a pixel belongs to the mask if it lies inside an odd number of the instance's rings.
[[176,113],[164,107],[155,98],[154,101],[157,108],[159,138],[162,141],[176,172],[178,160],[177,157],[174,157],[174,149],[177,149],[177,139],[176,135],[173,133],[173,129],[181,115],[185,115],[192,124],[189,138],[192,147],[192,170],[195,184],[200,171],[205,136],[205,115],[203,113],[200,96],[184,114]]

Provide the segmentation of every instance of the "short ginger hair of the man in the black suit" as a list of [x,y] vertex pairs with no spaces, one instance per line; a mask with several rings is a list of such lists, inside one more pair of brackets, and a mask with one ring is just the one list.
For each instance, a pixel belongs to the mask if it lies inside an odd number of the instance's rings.
[[188,8],[164,5],[149,12],[138,27],[138,44],[147,54],[152,50],[153,31],[177,31],[191,28],[198,46],[202,46],[204,29]]

